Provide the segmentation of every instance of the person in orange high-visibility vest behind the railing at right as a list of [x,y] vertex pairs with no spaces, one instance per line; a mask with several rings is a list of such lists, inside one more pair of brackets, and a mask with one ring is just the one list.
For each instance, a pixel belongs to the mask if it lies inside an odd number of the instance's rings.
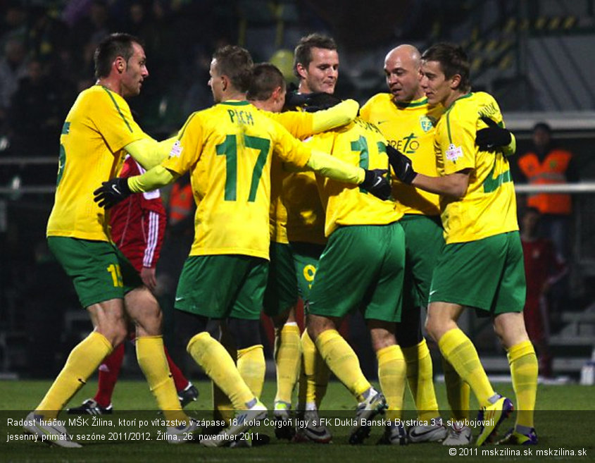
[[[572,153],[558,147],[551,128],[540,122],[533,128],[533,149],[520,156],[520,182],[530,185],[560,185],[577,182],[578,172]],[[542,235],[556,246],[556,251],[568,259],[568,228],[572,214],[572,198],[568,194],[537,193],[529,195],[527,206],[541,213]]]

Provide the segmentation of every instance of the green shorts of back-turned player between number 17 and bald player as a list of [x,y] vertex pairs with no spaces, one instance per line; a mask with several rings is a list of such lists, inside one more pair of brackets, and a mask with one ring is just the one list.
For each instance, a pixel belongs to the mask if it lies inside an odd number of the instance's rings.
[[404,266],[400,223],[337,228],[320,256],[308,311],[342,318],[361,309],[365,319],[398,322]]

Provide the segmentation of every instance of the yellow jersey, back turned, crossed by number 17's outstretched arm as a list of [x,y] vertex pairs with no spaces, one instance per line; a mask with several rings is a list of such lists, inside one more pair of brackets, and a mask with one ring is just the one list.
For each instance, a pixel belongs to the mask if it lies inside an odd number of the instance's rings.
[[[386,140],[378,128],[356,118],[349,125],[317,136],[320,147],[346,163],[365,169],[387,169]],[[317,175],[320,198],[325,207],[325,235],[341,226],[386,225],[403,213],[394,202],[382,201],[358,185],[337,182]]]

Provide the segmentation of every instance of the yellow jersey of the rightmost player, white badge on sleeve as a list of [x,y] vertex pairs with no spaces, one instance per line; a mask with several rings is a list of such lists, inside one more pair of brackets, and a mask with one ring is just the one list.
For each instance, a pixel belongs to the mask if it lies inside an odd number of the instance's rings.
[[436,127],[436,161],[439,175],[471,169],[467,192],[461,199],[441,196],[441,220],[446,243],[468,242],[518,230],[515,188],[503,152],[480,151],[477,130],[487,116],[503,126],[494,97],[468,93],[446,110]]

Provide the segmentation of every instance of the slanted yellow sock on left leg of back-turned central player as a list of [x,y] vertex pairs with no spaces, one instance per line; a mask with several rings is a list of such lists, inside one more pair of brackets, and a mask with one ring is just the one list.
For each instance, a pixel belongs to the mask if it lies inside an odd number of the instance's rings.
[[358,356],[347,341],[337,330],[327,330],[318,335],[316,347],[334,376],[361,402],[363,393],[372,386],[363,376]]

